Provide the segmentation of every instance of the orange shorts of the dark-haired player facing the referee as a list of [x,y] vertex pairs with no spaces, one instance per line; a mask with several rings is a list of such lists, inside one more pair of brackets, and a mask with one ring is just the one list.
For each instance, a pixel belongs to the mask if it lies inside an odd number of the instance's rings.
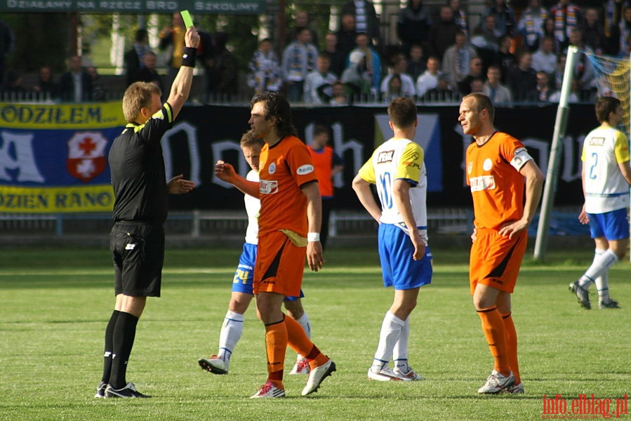
[[282,232],[270,232],[258,238],[253,292],[278,293],[300,297],[306,247],[295,246]]

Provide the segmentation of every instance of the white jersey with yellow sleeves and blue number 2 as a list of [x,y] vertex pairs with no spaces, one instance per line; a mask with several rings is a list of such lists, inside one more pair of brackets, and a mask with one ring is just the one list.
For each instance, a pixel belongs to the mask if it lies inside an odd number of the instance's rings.
[[629,161],[627,136],[616,128],[600,126],[583,143],[585,212],[605,213],[629,206],[629,185],[619,163]]

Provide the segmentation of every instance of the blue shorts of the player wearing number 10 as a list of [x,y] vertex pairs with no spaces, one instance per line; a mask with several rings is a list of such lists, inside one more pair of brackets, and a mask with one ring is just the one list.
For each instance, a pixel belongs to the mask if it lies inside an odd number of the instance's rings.
[[393,224],[379,225],[379,258],[383,285],[396,290],[418,288],[432,282],[432,252],[425,247],[421,260],[413,260],[412,240]]

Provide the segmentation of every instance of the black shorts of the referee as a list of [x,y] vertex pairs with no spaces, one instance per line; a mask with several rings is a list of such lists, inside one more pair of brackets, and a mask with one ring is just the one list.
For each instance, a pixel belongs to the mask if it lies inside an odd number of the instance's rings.
[[114,294],[159,297],[164,262],[164,228],[117,222],[109,232],[114,260]]

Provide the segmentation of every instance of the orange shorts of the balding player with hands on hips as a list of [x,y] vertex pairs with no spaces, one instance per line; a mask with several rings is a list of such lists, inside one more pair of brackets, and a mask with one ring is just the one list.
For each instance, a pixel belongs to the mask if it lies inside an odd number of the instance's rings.
[[508,239],[495,229],[478,228],[469,260],[471,295],[478,283],[512,293],[527,243],[526,230]]

